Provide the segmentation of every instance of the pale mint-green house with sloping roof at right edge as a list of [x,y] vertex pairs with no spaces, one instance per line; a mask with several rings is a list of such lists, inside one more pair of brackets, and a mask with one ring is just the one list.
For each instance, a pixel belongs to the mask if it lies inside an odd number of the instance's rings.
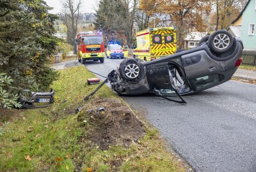
[[[244,9],[228,28],[231,34],[241,35],[245,49],[256,49],[256,0],[248,0]],[[239,28],[241,32],[239,33]],[[235,33],[236,32],[236,33]]]

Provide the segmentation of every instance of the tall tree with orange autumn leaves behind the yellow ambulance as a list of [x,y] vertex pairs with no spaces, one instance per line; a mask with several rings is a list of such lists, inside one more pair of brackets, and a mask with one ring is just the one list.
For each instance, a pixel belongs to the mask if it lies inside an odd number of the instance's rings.
[[141,0],[140,8],[149,16],[168,16],[164,22],[169,20],[177,26],[178,45],[181,46],[184,36],[189,31],[192,29],[205,30],[207,25],[202,16],[204,13],[209,14],[211,3],[207,0]]

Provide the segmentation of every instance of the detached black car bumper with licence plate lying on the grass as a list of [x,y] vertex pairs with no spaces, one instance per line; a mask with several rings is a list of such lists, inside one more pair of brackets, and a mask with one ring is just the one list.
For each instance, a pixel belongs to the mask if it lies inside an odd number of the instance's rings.
[[22,104],[22,108],[47,108],[54,102],[54,90],[51,89],[50,92],[23,90],[23,94],[19,94],[19,102]]

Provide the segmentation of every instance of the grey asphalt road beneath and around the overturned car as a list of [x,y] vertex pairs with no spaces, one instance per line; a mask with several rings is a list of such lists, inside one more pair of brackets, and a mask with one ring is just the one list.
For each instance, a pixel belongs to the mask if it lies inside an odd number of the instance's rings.
[[[106,76],[121,61],[86,67]],[[229,81],[185,96],[186,105],[150,95],[123,99],[146,112],[195,171],[256,171],[256,85]]]

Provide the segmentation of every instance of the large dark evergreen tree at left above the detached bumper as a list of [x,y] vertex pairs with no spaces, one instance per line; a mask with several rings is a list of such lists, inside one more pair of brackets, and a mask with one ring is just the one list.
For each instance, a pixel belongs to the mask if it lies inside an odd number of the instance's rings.
[[56,15],[42,0],[2,0],[0,6],[1,72],[12,76],[17,90],[47,89],[57,76],[47,66],[58,42]]

